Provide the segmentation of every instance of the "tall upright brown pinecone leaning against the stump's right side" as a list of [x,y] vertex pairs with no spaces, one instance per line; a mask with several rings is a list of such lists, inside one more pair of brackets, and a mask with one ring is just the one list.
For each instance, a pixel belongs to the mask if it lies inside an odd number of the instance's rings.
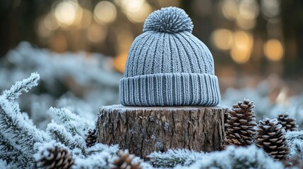
[[244,99],[243,103],[238,101],[232,106],[227,114],[225,123],[227,144],[236,146],[248,146],[253,144],[253,137],[256,134],[256,115],[254,115],[254,102]]

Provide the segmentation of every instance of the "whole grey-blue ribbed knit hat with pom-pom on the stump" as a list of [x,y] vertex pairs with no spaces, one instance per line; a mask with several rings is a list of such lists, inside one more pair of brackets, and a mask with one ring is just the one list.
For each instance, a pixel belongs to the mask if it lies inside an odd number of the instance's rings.
[[154,11],[136,37],[119,83],[124,106],[215,106],[220,101],[213,56],[191,34],[180,8]]

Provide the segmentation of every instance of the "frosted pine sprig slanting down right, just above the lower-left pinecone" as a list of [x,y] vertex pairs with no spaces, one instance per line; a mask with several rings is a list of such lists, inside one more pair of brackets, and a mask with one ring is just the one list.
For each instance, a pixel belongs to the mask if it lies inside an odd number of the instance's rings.
[[47,125],[47,133],[52,139],[61,142],[65,146],[69,146],[70,149],[81,149],[82,153],[85,152],[85,140],[80,135],[72,135],[63,125],[57,123],[49,123]]

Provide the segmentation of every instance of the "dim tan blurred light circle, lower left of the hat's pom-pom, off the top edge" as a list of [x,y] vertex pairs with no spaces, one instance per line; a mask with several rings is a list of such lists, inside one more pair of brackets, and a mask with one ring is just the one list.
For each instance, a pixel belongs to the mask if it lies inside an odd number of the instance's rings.
[[88,32],[86,36],[88,40],[93,43],[102,42],[105,40],[107,35],[107,27],[98,25],[97,23],[90,25],[88,27]]

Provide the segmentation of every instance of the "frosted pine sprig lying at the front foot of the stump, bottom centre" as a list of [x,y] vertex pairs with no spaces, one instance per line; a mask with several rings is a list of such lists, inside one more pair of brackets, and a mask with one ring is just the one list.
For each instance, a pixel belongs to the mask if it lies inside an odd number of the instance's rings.
[[190,165],[206,156],[203,152],[188,149],[170,149],[165,153],[154,152],[148,156],[155,167],[172,168],[176,165]]

